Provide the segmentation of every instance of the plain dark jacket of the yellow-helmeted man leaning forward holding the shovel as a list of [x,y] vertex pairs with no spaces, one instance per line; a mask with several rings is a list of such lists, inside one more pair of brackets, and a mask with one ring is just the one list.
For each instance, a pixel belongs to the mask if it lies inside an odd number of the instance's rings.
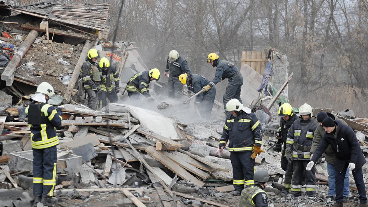
[[217,62],[215,77],[212,80],[213,84],[217,84],[225,78],[231,78],[239,72],[238,68],[226,60],[219,60]]

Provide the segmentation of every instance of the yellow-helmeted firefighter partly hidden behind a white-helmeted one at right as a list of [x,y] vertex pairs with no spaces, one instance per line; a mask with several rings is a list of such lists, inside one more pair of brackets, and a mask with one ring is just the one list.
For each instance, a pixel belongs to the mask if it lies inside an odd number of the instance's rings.
[[294,114],[293,107],[289,103],[283,103],[279,108],[279,116],[280,125],[279,130],[276,133],[277,143],[275,145],[275,151],[281,152],[281,168],[285,171],[284,176],[284,185],[282,188],[281,195],[287,196],[290,193],[291,188],[291,178],[293,176],[293,163],[289,163],[285,157],[286,150],[286,137],[291,124],[297,119],[299,116]]

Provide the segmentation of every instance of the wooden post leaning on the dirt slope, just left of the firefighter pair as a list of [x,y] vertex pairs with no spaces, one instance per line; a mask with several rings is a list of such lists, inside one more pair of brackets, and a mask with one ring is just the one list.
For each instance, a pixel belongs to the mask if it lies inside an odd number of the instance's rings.
[[69,103],[70,98],[71,98],[71,92],[74,88],[75,83],[77,83],[79,73],[81,73],[82,64],[84,63],[84,60],[85,60],[85,58],[87,56],[87,53],[88,53],[88,50],[92,48],[92,45],[93,45],[92,42],[88,41],[88,40],[84,44],[84,47],[83,47],[82,52],[81,52],[81,56],[79,56],[78,62],[77,62],[77,64],[75,64],[74,71],[73,71],[73,74],[70,77],[68,87],[65,90],[65,94],[64,94],[64,97],[63,97],[63,103]]

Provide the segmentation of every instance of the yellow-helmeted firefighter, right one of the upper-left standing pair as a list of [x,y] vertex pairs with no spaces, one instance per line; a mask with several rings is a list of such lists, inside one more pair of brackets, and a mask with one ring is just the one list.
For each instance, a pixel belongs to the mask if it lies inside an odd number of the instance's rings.
[[111,103],[117,103],[117,94],[120,91],[120,78],[116,67],[114,65],[110,65],[110,61],[106,57],[101,58],[99,66],[102,70],[102,76],[100,81],[101,93],[98,95],[100,99],[100,107],[102,108],[107,104],[106,98],[108,98]]

